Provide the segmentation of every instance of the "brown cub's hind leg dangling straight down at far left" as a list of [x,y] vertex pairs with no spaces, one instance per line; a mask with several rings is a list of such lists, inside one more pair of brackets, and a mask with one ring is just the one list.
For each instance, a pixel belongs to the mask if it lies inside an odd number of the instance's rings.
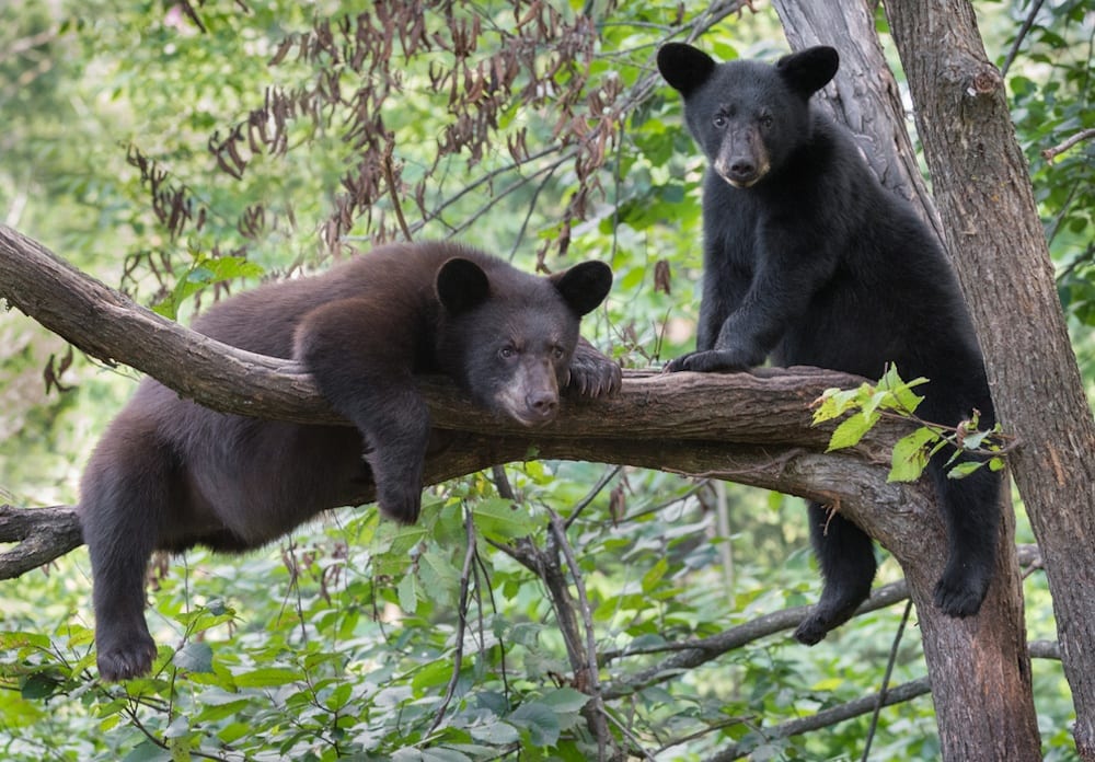
[[100,446],[80,503],[99,672],[108,681],[146,674],[155,659],[145,621],[145,579],[170,499],[170,455],[132,430],[123,434]]

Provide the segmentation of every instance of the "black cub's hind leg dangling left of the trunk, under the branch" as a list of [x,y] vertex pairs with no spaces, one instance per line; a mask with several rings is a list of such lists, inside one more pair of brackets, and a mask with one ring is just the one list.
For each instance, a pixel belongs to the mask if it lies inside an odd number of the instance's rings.
[[795,639],[812,646],[833,627],[846,622],[871,594],[875,578],[875,550],[871,538],[854,523],[809,505],[810,538],[825,585],[821,600],[795,630]]

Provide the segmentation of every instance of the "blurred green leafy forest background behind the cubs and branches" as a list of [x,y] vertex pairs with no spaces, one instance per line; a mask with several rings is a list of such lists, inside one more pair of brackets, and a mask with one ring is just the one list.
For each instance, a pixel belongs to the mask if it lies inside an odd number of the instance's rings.
[[[653,54],[702,32],[721,59],[771,57],[782,33],[760,4],[574,5],[4,7],[0,213],[184,320],[407,234],[529,268],[601,258],[618,280],[587,336],[630,366],[672,357],[698,304],[702,162]],[[1095,127],[1095,14],[1034,5],[978,9],[1090,386],[1095,157],[1091,142],[1041,152]],[[125,370],[66,357],[64,342],[0,313],[2,501],[76,503],[83,460],[132,389]],[[675,644],[815,600],[798,500],[533,462],[446,485],[424,516],[399,530],[344,510],[263,553],[164,562],[150,612],[160,669],[125,686],[95,680],[84,551],[5,582],[0,755],[590,759],[557,591],[520,563],[532,552],[573,555],[600,679],[619,694],[609,731],[634,755],[704,759],[738,741],[754,759],[852,759],[872,734],[877,759],[937,754],[926,696],[883,709],[876,731],[863,715],[773,732],[877,691],[891,651],[892,682],[923,676],[914,627],[898,640],[900,605],[812,649],[773,634],[636,684]],[[1019,539],[1031,540],[1022,520]],[[899,576],[884,564],[880,581]],[[1052,638],[1040,575],[1025,593],[1030,637]],[[1059,667],[1036,661],[1035,681],[1047,759],[1072,759]]]

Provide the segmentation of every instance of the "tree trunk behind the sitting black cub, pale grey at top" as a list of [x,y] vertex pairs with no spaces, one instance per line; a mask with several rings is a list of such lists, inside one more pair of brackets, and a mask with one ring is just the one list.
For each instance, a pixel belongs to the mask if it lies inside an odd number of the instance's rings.
[[[775,0],[775,7],[793,48],[837,47],[840,70],[826,88],[826,107],[855,135],[883,184],[917,206],[945,241],[920,177],[871,9],[863,2],[825,0]],[[942,615],[932,601],[938,569],[922,558],[898,556],[917,604],[945,760],[1041,758],[1014,511],[1010,498],[1002,499],[1005,518],[995,579],[977,617],[958,621]]]

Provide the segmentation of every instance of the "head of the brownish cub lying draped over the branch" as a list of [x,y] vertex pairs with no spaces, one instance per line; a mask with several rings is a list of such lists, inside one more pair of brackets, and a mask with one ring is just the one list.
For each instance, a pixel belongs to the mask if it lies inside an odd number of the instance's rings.
[[538,277],[504,263],[448,259],[436,278],[441,370],[495,414],[526,426],[550,423],[580,319],[611,286],[612,270],[602,262]]

